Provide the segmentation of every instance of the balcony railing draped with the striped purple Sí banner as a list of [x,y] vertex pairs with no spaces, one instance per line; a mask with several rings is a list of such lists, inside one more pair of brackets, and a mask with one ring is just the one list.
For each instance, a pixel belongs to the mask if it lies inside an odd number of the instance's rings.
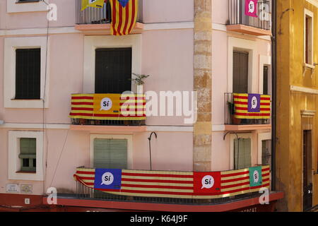
[[224,107],[225,125],[271,124],[270,95],[225,93]]

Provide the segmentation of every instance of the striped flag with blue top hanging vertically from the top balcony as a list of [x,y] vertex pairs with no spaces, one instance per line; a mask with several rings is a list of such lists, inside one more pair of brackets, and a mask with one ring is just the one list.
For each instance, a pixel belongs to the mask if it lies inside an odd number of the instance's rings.
[[109,0],[112,8],[111,35],[129,35],[138,15],[138,0]]

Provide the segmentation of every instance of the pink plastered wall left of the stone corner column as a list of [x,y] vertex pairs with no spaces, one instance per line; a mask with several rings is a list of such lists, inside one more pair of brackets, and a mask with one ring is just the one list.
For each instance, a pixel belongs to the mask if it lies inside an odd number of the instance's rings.
[[[9,131],[43,131],[42,108],[6,108],[4,92],[0,92],[0,193],[6,193],[6,184],[31,184],[33,194],[44,194],[50,186],[59,192],[73,193],[76,167],[90,165],[90,135],[122,134],[132,138],[131,169],[150,169],[148,136],[158,134],[151,143],[152,167],[160,170],[193,170],[193,129],[184,124],[184,117],[148,117],[143,132],[73,131],[69,112],[71,94],[83,93],[84,44],[87,33],[75,25],[74,1],[50,1],[57,4],[57,21],[49,22],[48,83],[43,136],[43,179],[40,181],[9,179]],[[63,1],[64,2],[64,1]],[[11,37],[45,37],[47,13],[43,11],[7,13],[7,1],[0,1],[0,85],[4,87],[4,43]],[[141,37],[141,73],[150,74],[143,90],[192,91],[194,76],[194,1],[143,1],[143,19],[148,25]],[[182,4],[182,11],[178,7]],[[23,5],[23,4],[20,4]],[[167,10],[168,9],[168,10]],[[151,13],[149,13],[151,12]],[[176,23],[177,22],[177,23]],[[100,32],[90,35],[105,37]],[[121,37],[116,37],[121,40]],[[107,43],[105,42],[105,45]],[[182,81],[182,83],[180,83]]]

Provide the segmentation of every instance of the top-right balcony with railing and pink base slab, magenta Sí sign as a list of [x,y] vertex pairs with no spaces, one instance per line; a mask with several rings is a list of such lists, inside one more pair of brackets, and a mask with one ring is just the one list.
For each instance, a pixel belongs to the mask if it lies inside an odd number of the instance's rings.
[[248,35],[271,35],[271,1],[259,0],[256,15],[245,13],[245,0],[228,0],[227,30]]

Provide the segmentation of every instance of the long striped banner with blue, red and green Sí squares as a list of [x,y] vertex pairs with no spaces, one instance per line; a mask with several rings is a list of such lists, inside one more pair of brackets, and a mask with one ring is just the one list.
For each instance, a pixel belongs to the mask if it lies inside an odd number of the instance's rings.
[[223,172],[177,172],[79,167],[73,177],[83,186],[114,195],[224,198],[269,188],[270,168],[266,165]]

